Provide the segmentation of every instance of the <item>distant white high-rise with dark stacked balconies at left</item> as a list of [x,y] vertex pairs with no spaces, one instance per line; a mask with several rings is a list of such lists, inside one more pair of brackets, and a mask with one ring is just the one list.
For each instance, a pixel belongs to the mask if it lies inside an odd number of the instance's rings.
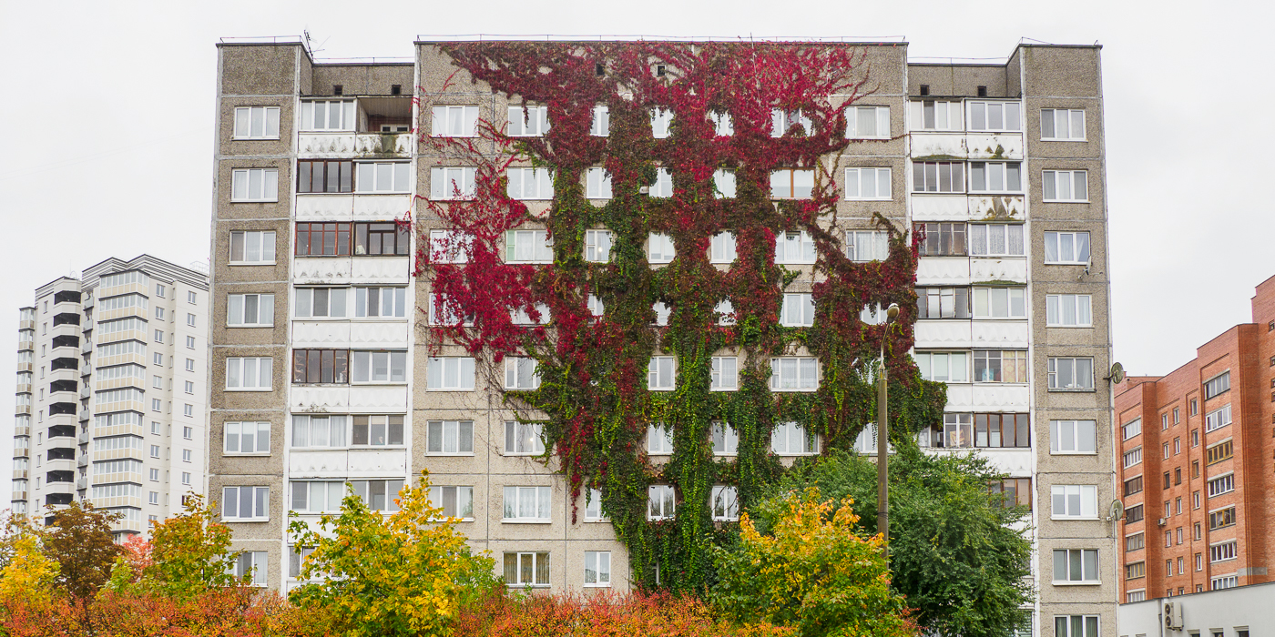
[[19,313],[15,513],[93,502],[121,536],[204,493],[205,273],[107,259]]

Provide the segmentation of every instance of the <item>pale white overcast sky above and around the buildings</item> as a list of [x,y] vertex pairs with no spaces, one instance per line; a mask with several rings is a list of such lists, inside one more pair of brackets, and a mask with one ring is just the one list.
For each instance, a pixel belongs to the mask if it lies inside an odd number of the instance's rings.
[[[1003,59],[1021,37],[1096,41],[1116,359],[1163,375],[1250,321],[1253,287],[1275,275],[1275,215],[1244,191],[1275,175],[1272,13],[1112,0],[0,0],[0,369],[15,368],[18,307],[36,287],[111,256],[208,259],[214,45],[309,29],[320,59],[409,57],[417,34],[465,33],[889,36],[913,59]],[[11,405],[0,390],[5,445]],[[9,462],[0,454],[0,484]]]

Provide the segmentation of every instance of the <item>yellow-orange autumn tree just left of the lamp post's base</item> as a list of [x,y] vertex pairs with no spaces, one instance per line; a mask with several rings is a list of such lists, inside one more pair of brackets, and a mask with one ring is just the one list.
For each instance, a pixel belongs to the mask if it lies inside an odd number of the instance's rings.
[[825,502],[816,488],[762,502],[765,535],[741,515],[740,547],[715,550],[709,599],[738,622],[796,626],[802,637],[914,634],[890,590],[884,541],[861,535],[850,503]]

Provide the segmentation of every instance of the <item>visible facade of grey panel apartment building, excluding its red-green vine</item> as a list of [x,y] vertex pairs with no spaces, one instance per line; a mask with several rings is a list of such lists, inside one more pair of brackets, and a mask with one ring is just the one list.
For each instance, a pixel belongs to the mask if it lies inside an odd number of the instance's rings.
[[[553,121],[562,116],[543,106],[524,111],[516,96],[472,80],[446,50],[446,42],[422,41],[409,61],[334,64],[311,59],[301,43],[219,45],[209,434],[222,451],[209,459],[210,492],[245,552],[241,568],[256,567],[258,582],[275,589],[298,582],[289,512],[314,520],[333,510],[343,483],[390,510],[395,489],[422,469],[437,502],[462,519],[476,548],[492,552],[510,583],[623,590],[658,578],[658,569],[631,572],[626,544],[589,489],[572,501],[557,466],[537,460],[539,429],[504,400],[538,386],[534,367],[493,363],[431,331],[451,312],[431,297],[430,262],[458,259],[422,243],[455,232],[440,206],[469,199],[474,182],[474,163],[440,150],[437,140],[468,138],[468,148],[490,153],[483,122],[524,138],[588,122],[592,136],[607,138],[608,112],[584,110],[576,124]],[[921,442],[936,454],[993,459],[1011,476],[993,488],[1031,507],[1039,550],[1033,634],[1112,632],[1100,50],[1021,45],[1002,64],[938,65],[909,62],[899,42],[853,50],[871,68],[872,90],[845,113],[853,143],[821,159],[838,195],[820,227],[854,262],[886,257],[873,215],[923,236],[919,301],[905,313],[917,317],[913,355],[922,375],[947,383],[949,403]],[[606,75],[606,64],[597,73]],[[671,71],[654,64],[652,73]],[[668,135],[676,117],[654,112],[652,138]],[[776,108],[774,117],[773,138],[811,126],[801,112]],[[720,138],[733,134],[725,116],[714,116],[713,126]],[[552,209],[552,177],[542,171],[507,168],[510,196],[533,214]],[[729,197],[736,173],[725,172],[713,180]],[[641,195],[668,196],[681,178],[668,173],[658,168]],[[813,171],[798,168],[775,171],[765,187],[775,200],[801,200],[813,182]],[[583,171],[578,187],[595,208],[612,199],[603,168]],[[395,225],[407,219],[413,232]],[[502,259],[555,262],[562,247],[539,228],[506,234]],[[607,261],[612,237],[588,231],[584,260]],[[733,261],[733,234],[704,240],[710,262]],[[803,312],[822,276],[812,265],[815,243],[805,232],[775,241],[775,262],[797,273],[779,322],[810,325]],[[643,257],[671,264],[683,250],[673,243],[653,232]],[[425,270],[414,276],[422,251]],[[662,303],[653,307],[655,325],[669,321]],[[589,311],[602,315],[603,304],[590,297]],[[547,312],[514,310],[515,324],[552,325]],[[881,321],[880,308],[858,315],[866,325]],[[774,391],[810,390],[802,361],[817,386],[824,363],[794,352],[769,363]],[[713,355],[713,387],[737,387],[747,361]],[[652,358],[644,391],[677,386],[677,364]],[[643,451],[653,470],[674,454],[673,438],[652,423]],[[714,456],[738,445],[731,423],[715,422],[711,438]],[[856,446],[871,452],[871,440],[867,431]],[[796,424],[776,423],[770,441],[784,464],[822,448]],[[727,451],[718,454],[718,445]],[[648,520],[659,520],[682,506],[685,489],[652,484],[648,493]],[[725,484],[705,493],[714,521],[737,517],[734,493]]]

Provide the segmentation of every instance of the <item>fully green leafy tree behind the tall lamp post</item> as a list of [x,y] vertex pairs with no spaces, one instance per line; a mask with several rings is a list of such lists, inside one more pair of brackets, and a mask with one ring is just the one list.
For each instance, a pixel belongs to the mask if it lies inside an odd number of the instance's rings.
[[[1003,478],[980,455],[924,454],[899,445],[890,457],[891,587],[927,632],[993,637],[1026,628],[1034,591],[1026,507],[1006,507],[988,484]],[[876,464],[834,451],[787,475],[775,493],[816,487],[859,503],[861,529],[876,534]]]

